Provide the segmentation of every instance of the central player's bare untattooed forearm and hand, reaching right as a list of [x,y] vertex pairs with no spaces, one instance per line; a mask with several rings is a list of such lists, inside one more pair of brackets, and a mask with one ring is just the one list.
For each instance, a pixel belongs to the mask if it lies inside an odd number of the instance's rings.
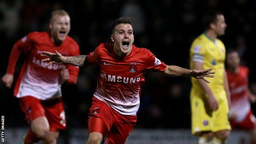
[[192,76],[197,79],[203,79],[204,81],[209,81],[205,77],[213,78],[214,76],[211,74],[214,74],[215,72],[212,71],[213,69],[204,69],[204,70],[190,70],[190,69],[184,69],[179,66],[167,66],[165,68],[165,71],[161,72],[163,75],[166,76]]

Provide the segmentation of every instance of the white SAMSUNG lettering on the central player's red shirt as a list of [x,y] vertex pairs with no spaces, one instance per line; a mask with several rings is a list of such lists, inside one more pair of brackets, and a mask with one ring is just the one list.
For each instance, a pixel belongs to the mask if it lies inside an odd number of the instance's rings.
[[109,82],[123,82],[125,84],[139,82],[139,80],[140,80],[140,77],[128,78],[128,77],[121,77],[121,76],[116,76],[116,75],[108,75],[106,73],[101,73],[101,78],[103,78],[104,80],[107,80]]

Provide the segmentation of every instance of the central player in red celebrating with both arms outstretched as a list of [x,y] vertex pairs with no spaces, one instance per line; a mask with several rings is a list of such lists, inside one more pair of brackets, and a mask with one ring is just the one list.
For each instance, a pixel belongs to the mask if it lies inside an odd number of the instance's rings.
[[[158,71],[167,76],[193,76],[208,82],[213,77],[212,69],[189,70],[167,66],[146,48],[133,45],[134,35],[130,18],[119,18],[112,25],[112,42],[101,43],[93,53],[64,57],[57,51],[44,52],[56,63],[82,66],[85,63],[100,67],[97,89],[92,98],[89,113],[87,144],[100,144],[107,136],[106,144],[123,144],[137,122],[139,97],[145,82],[146,71]],[[156,84],[157,85],[157,84]]]

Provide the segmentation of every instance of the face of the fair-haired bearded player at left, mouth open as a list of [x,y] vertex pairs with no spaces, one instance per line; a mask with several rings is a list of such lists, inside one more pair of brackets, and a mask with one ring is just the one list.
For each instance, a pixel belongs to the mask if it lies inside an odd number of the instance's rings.
[[51,35],[55,41],[64,41],[70,31],[69,16],[55,15],[50,23]]

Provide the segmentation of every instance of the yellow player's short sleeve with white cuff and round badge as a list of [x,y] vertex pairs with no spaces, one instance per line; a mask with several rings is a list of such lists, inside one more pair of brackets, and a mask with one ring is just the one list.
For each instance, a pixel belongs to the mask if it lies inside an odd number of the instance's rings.
[[203,63],[205,53],[206,53],[206,50],[203,46],[201,46],[197,43],[192,44],[192,46],[190,48],[190,53],[191,53],[193,62]]

